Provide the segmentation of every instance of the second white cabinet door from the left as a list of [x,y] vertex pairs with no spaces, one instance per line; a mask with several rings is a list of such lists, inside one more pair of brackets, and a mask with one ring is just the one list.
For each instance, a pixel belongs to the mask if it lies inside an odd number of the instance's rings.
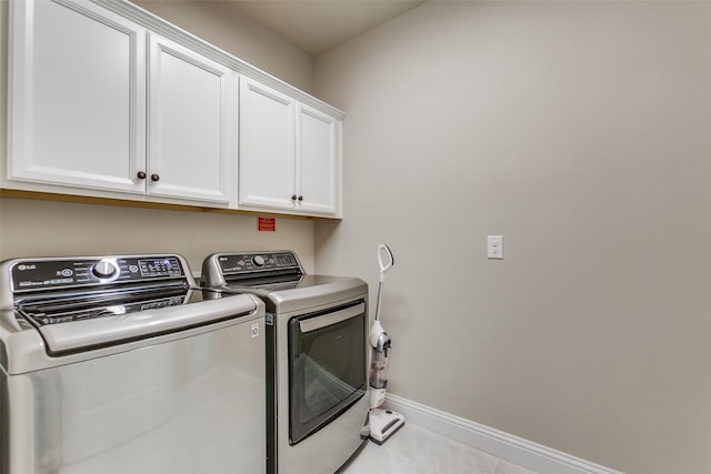
[[230,202],[233,74],[194,51],[150,36],[148,194]]

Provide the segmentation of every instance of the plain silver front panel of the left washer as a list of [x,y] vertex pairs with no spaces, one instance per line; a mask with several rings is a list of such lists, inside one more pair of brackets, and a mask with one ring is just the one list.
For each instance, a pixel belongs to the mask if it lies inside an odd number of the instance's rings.
[[263,351],[257,317],[77,364],[3,372],[2,474],[264,472]]

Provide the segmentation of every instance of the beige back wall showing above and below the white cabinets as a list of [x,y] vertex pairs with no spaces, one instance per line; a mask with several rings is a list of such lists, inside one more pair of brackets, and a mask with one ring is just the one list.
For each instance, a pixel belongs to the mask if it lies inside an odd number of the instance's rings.
[[[258,68],[309,91],[312,59],[224,2],[141,4]],[[6,153],[7,9],[0,0],[0,153]],[[232,26],[233,28],[231,28]],[[212,252],[292,249],[314,265],[313,222],[277,219],[276,232],[258,232],[247,215],[134,209],[0,198],[0,260],[18,256],[177,252],[200,271]]]

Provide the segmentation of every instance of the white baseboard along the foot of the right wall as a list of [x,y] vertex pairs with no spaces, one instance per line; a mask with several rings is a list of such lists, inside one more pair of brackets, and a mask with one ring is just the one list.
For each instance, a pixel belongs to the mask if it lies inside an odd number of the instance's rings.
[[407,422],[541,474],[622,474],[585,460],[388,394],[383,406]]

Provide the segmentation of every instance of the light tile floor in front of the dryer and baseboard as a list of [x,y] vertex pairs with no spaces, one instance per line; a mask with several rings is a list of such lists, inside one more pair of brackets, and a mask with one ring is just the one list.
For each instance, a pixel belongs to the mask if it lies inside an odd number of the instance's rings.
[[535,474],[410,423],[382,445],[369,442],[341,473]]

